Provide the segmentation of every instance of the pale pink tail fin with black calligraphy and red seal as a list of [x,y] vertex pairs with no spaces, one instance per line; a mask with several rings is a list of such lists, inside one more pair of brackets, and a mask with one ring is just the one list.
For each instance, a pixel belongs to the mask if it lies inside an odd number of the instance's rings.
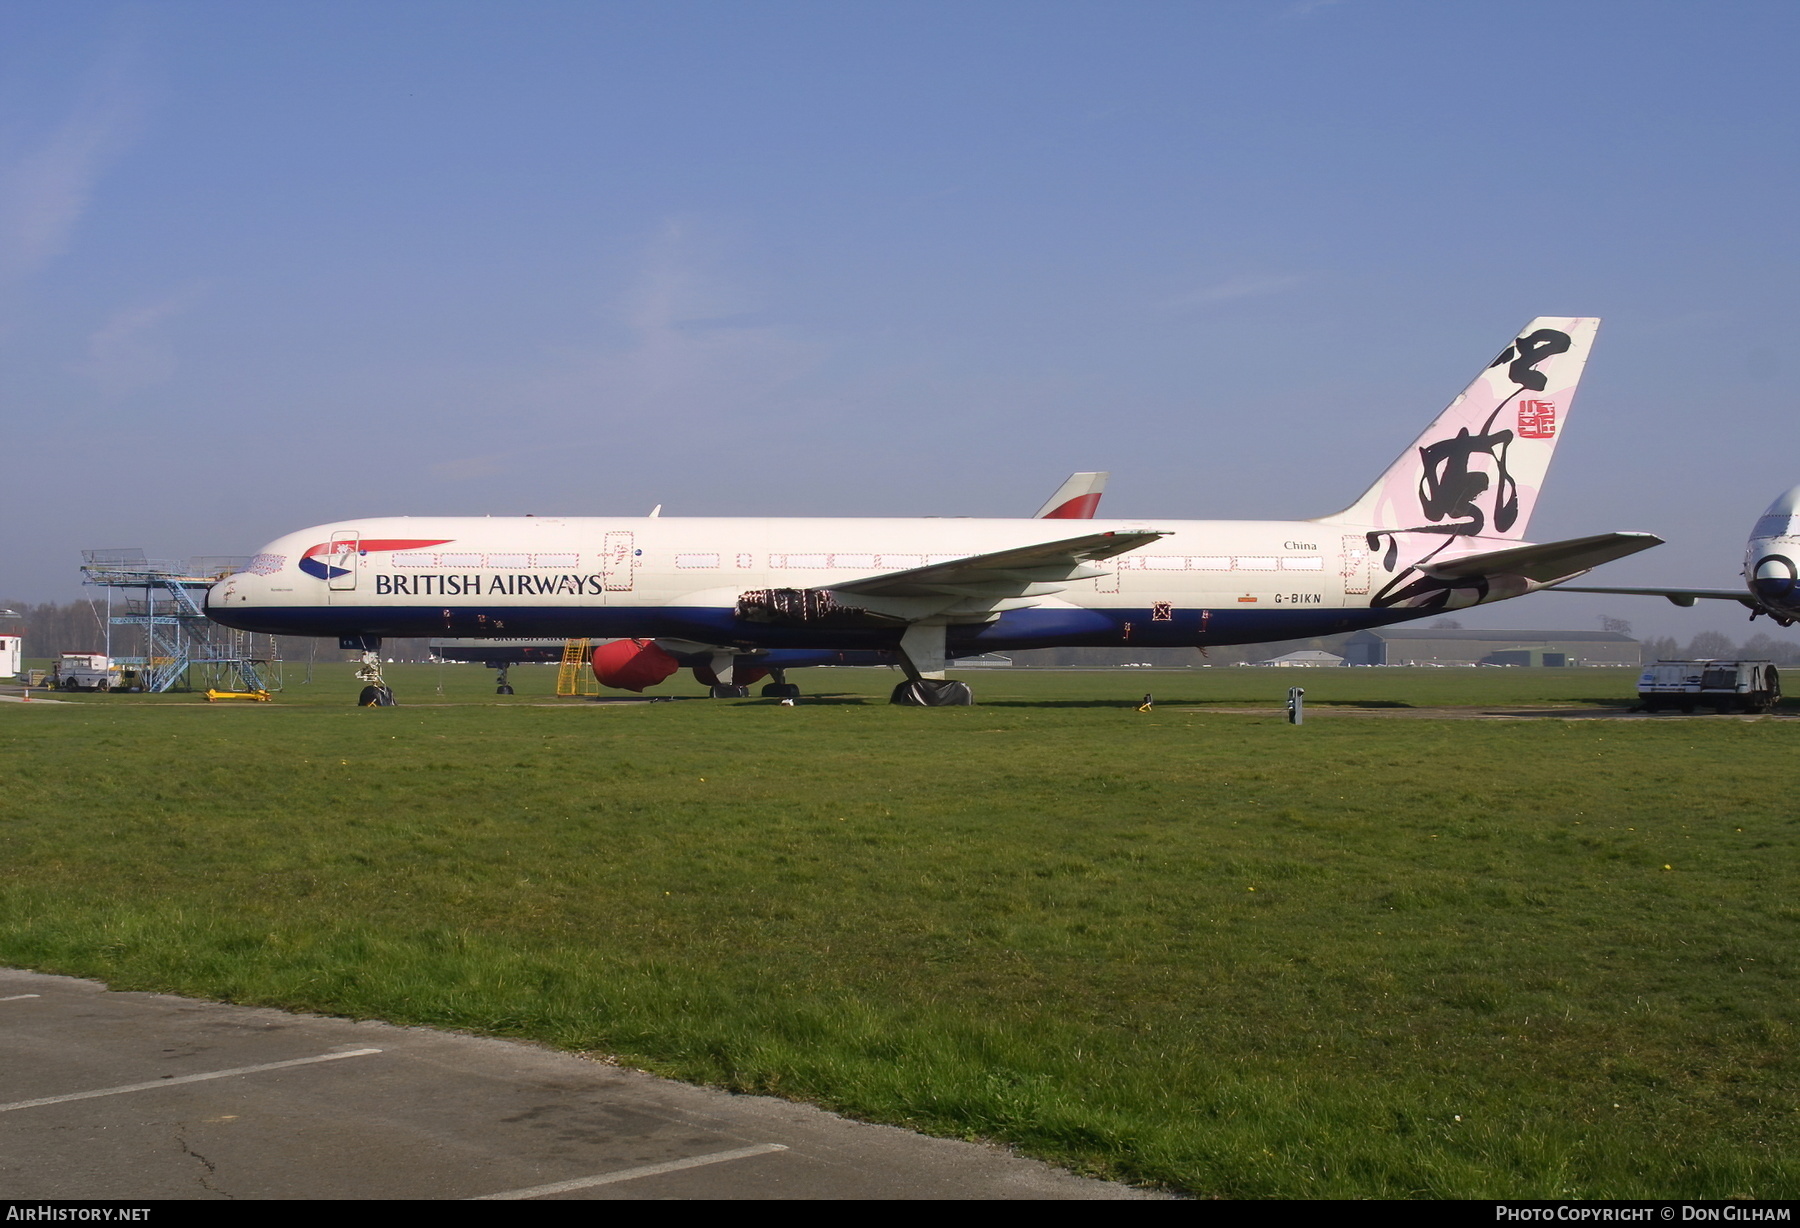
[[1539,317],[1350,508],[1321,524],[1525,538],[1600,321]]

